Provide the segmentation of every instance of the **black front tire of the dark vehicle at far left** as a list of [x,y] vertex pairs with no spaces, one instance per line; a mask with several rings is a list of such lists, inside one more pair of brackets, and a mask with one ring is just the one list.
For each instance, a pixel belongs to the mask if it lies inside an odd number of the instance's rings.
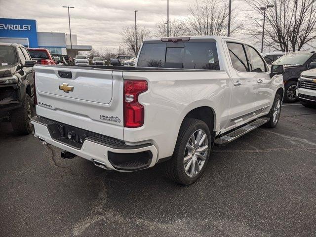
[[31,97],[26,94],[22,102],[22,106],[11,113],[11,124],[13,130],[16,133],[23,135],[32,133],[34,129],[31,123],[32,116]]

